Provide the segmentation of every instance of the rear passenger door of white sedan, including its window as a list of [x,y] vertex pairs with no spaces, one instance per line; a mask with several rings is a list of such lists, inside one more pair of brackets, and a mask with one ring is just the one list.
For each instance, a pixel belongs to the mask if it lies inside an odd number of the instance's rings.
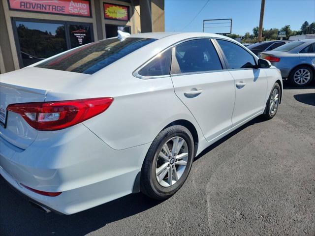
[[197,120],[207,141],[231,128],[234,79],[210,39],[173,47],[171,78],[176,95]]

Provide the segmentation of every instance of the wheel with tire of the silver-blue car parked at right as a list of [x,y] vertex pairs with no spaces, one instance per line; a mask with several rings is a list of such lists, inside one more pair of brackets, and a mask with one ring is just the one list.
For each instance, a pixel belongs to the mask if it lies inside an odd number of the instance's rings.
[[289,82],[296,87],[309,85],[314,79],[313,70],[307,65],[301,65],[294,68],[289,75]]

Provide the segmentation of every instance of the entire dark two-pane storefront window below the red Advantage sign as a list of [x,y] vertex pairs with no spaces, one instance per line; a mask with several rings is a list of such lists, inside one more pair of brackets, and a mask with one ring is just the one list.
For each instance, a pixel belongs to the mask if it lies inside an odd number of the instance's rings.
[[90,23],[13,18],[20,68],[94,41]]

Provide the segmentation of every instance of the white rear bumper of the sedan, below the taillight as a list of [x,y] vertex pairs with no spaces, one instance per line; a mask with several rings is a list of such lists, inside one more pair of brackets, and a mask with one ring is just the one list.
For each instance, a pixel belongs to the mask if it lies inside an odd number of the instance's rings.
[[[0,139],[0,174],[36,203],[73,214],[132,193],[150,145],[114,150],[83,124],[66,131],[40,132],[25,150]],[[22,184],[62,193],[44,196]]]

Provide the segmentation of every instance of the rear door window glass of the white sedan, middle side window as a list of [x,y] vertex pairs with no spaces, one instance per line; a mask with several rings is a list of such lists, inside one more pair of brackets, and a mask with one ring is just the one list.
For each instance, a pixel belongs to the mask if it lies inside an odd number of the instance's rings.
[[175,47],[180,73],[221,70],[222,65],[210,39],[196,39]]

